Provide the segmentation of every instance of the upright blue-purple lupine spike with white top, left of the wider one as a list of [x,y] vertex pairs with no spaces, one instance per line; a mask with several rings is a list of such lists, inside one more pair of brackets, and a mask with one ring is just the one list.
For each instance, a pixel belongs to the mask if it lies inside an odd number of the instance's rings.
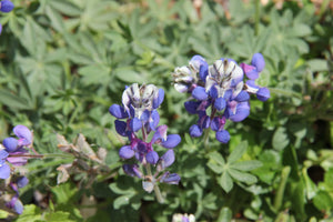
[[[122,105],[112,104],[110,113],[117,118],[114,121],[117,132],[130,140],[129,145],[119,150],[122,159],[135,158],[139,164],[124,164],[123,171],[131,175],[143,178],[143,188],[151,192],[157,182],[178,184],[180,176],[169,171],[162,173],[165,168],[174,162],[175,148],[181,138],[178,134],[167,134],[168,127],[159,125],[160,114],[157,109],[163,102],[164,91],[153,84],[143,84],[139,87],[134,83],[127,87],[122,94]],[[120,120],[123,119],[123,120]],[[149,137],[151,133],[151,137]],[[151,138],[148,141],[148,138]],[[159,157],[153,145],[161,145],[168,151]],[[155,167],[155,173],[152,174],[150,165]],[[140,167],[145,168],[145,175]]]

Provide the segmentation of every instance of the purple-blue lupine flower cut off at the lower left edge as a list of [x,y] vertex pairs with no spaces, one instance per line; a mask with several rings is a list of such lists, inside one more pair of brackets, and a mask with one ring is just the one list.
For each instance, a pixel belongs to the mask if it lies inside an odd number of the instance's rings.
[[[0,179],[9,179],[13,172],[11,167],[24,165],[28,162],[29,151],[27,148],[32,148],[32,132],[24,125],[13,128],[13,133],[17,138],[6,138],[2,141],[0,150]],[[14,178],[14,176],[13,176]],[[26,176],[11,178],[10,186],[16,192],[13,198],[6,204],[17,213],[21,214],[23,204],[19,199],[19,189],[28,184],[29,180]],[[14,181],[14,182],[12,182]]]

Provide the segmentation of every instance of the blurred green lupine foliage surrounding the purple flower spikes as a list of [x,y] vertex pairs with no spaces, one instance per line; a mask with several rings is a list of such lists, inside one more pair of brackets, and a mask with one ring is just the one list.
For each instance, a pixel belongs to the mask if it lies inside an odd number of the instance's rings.
[[[26,210],[17,221],[171,221],[173,213],[192,213],[198,221],[333,220],[332,1],[13,3],[0,18],[1,138],[26,124],[33,129],[36,150],[60,153],[56,133],[68,141],[82,133],[93,150],[108,150],[112,169],[107,176],[95,172],[95,180],[82,170],[57,185],[57,167],[73,160],[32,161],[21,198]],[[183,108],[186,95],[171,84],[173,69],[194,54],[209,63],[250,62],[255,52],[266,61],[259,84],[272,98],[252,101],[250,117],[229,124],[230,143],[221,145],[211,134],[205,151],[201,139],[188,134],[195,118]],[[172,169],[182,181],[161,188],[165,204],[119,164],[125,141],[115,134],[108,108],[133,82],[165,90],[161,123],[183,138]],[[251,171],[250,182],[233,176],[226,193],[230,183],[223,183],[215,157],[240,149],[240,161],[262,167]]]

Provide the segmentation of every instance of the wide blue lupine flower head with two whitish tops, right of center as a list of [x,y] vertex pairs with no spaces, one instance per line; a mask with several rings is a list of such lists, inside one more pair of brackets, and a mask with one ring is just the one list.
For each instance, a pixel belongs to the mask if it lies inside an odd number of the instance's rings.
[[[189,65],[175,68],[172,73],[176,91],[190,93],[184,103],[191,114],[198,114],[196,124],[190,128],[191,137],[201,137],[204,129],[215,131],[216,140],[228,143],[229,132],[224,129],[226,120],[243,121],[250,114],[250,94],[261,101],[270,98],[268,88],[255,84],[254,80],[264,69],[261,53],[255,53],[251,64],[238,64],[232,59],[216,60],[209,65],[201,56],[194,56]],[[244,82],[244,74],[248,81]],[[208,114],[208,108],[211,112]]]

